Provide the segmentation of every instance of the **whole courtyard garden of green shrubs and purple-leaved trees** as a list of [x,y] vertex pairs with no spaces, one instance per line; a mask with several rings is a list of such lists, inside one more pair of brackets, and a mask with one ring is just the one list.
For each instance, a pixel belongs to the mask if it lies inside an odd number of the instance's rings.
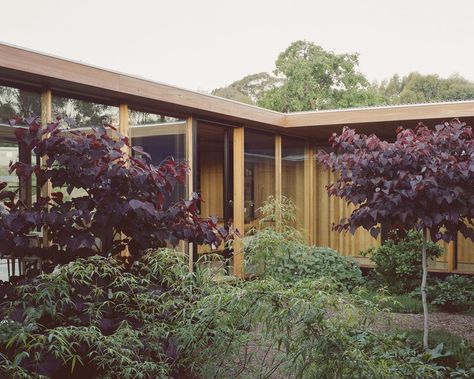
[[[35,176],[40,186],[49,182],[54,191],[27,204],[0,185],[0,253],[45,261],[44,274],[0,284],[0,376],[474,377],[474,279],[426,272],[427,260],[440,254],[432,240],[449,240],[458,230],[471,232],[463,221],[472,212],[472,206],[463,208],[472,202],[470,128],[454,123],[436,129],[438,134],[457,133],[458,161],[440,155],[458,163],[446,175],[451,187],[441,175],[446,171],[425,180],[409,177],[410,172],[403,176],[400,169],[393,177],[393,169],[381,171],[386,181],[369,184],[373,176],[364,169],[377,167],[369,154],[377,153],[384,167],[393,164],[377,149],[386,143],[351,131],[334,137],[336,148],[368,146],[362,149],[365,161],[356,161],[364,182],[349,169],[355,161],[323,157],[343,174],[329,191],[353,196],[360,205],[359,213],[335,227],[363,226],[377,234],[379,224],[389,223],[393,231],[384,244],[366,252],[374,268],[364,273],[344,252],[306,245],[288,199],[269,199],[255,230],[232,234],[216,220],[200,217],[198,196],[169,202],[174,187],[188,175],[185,164],[170,158],[155,167],[143,149],[128,152],[127,138],[113,128],[64,134],[59,123],[45,128],[31,119],[28,128],[18,130],[19,143],[44,163],[18,162],[11,172],[23,180]],[[428,136],[427,129],[420,130]],[[408,142],[419,137],[402,133]],[[441,137],[442,145],[452,142]],[[456,151],[456,146],[449,149]],[[398,159],[386,150],[392,161]],[[344,162],[349,163],[338,166]],[[397,161],[404,163],[419,161]],[[419,168],[424,173],[433,167]],[[395,177],[399,183],[394,184]],[[409,188],[403,187],[405,177]],[[445,193],[435,191],[437,180],[444,180]],[[354,182],[357,190],[351,187]],[[445,200],[432,213],[427,211],[432,207],[425,207],[421,218],[423,207],[401,201],[382,213],[388,208],[382,194],[400,186],[407,199],[416,198],[410,191],[428,191]],[[368,188],[380,193],[375,197],[379,209],[368,208],[374,200]],[[64,194],[77,189],[87,195]],[[402,218],[408,228],[402,227]],[[38,229],[47,230],[49,242],[32,246],[28,234]],[[243,243],[245,280],[205,264],[221,259],[213,254],[203,255],[189,272],[184,254],[172,248],[180,241]],[[428,312],[429,334],[424,325]]]

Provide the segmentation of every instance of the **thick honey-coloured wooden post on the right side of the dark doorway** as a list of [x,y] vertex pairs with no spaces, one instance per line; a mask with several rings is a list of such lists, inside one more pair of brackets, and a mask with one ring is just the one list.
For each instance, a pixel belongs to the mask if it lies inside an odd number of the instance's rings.
[[[244,128],[234,129],[234,229],[238,230],[241,237],[245,227],[244,203]],[[234,275],[243,278],[244,251],[241,237],[234,240]]]

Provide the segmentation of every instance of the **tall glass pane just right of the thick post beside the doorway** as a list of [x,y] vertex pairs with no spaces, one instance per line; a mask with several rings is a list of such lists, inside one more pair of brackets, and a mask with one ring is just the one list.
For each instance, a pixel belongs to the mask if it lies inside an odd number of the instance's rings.
[[245,229],[258,227],[260,208],[275,196],[275,135],[246,129],[244,135]]

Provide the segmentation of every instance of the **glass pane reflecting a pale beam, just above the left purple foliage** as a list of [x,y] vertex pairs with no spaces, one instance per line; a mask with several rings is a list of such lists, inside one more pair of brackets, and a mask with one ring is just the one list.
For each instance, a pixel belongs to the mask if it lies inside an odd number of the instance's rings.
[[[172,117],[138,111],[129,112],[132,144],[142,146],[151,155],[152,163],[160,164],[173,157],[177,162],[186,159],[186,122]],[[185,185],[178,184],[166,199],[171,203],[185,197]]]

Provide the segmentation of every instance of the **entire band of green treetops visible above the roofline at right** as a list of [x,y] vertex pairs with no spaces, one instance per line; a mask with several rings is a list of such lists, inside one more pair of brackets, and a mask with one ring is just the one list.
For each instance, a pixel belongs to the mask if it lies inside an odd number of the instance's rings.
[[296,41],[280,53],[272,74],[247,75],[212,94],[280,112],[474,99],[474,83],[457,74],[412,72],[369,83],[358,66],[358,54]]

